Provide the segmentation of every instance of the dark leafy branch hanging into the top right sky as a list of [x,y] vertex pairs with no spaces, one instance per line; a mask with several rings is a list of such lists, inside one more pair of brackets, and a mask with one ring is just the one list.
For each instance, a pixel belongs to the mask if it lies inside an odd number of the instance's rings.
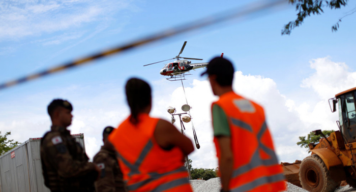
[[[323,13],[323,7],[330,9],[340,9],[342,6],[347,5],[348,0],[288,0],[290,4],[295,5],[296,11],[299,11],[297,18],[294,21],[290,21],[288,24],[284,25],[282,29],[282,35],[290,35],[290,32],[293,28],[301,25],[304,19],[310,14],[319,15]],[[332,31],[337,31],[339,28],[339,21],[332,27]]]

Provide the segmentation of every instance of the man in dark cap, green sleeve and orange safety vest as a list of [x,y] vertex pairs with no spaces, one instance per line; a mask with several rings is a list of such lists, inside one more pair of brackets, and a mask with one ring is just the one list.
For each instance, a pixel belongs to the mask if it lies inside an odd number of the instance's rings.
[[286,189],[263,108],[232,90],[232,63],[213,58],[205,72],[219,100],[212,104],[214,143],[219,159],[221,191]]

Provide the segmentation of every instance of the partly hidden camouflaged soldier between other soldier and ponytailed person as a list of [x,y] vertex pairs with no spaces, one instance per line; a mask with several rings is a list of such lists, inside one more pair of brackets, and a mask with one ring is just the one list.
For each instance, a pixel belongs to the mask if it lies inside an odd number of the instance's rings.
[[104,145],[94,156],[93,162],[101,169],[101,176],[95,182],[95,189],[98,192],[126,192],[123,181],[123,174],[118,165],[115,147],[107,139],[114,130],[112,126],[107,126],[103,132]]

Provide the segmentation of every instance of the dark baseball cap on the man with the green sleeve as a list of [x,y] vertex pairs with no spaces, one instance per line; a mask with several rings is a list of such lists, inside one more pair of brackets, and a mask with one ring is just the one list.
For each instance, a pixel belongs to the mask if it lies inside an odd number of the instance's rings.
[[206,66],[206,71],[204,71],[200,76],[207,75],[217,75],[220,77],[233,76],[233,66],[232,63],[222,57],[213,58],[209,64]]

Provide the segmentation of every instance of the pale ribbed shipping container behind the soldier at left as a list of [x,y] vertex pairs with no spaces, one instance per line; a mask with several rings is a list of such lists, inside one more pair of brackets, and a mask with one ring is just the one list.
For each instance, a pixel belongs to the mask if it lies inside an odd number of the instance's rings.
[[[72,136],[85,152],[84,134]],[[0,156],[1,192],[50,192],[42,175],[41,139],[30,138]]]

